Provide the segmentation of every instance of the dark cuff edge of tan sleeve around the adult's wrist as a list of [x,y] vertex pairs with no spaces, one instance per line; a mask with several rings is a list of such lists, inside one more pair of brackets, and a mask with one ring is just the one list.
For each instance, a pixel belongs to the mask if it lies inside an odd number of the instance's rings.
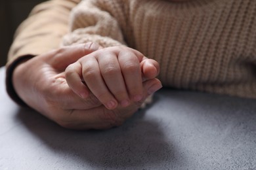
[[13,84],[12,84],[12,74],[13,74],[13,71],[14,71],[15,67],[19,63],[21,63],[24,60],[31,59],[33,57],[34,56],[32,56],[32,55],[21,56],[20,58],[17,58],[14,61],[12,61],[12,63],[7,66],[7,70],[6,70],[5,84],[6,84],[7,93],[9,94],[9,96],[11,97],[11,99],[13,101],[15,101],[18,105],[20,105],[22,107],[28,107],[28,105],[26,105],[26,103],[24,101],[22,101],[22,99],[20,99],[20,97],[18,96],[18,94],[14,90],[14,87],[13,87]]

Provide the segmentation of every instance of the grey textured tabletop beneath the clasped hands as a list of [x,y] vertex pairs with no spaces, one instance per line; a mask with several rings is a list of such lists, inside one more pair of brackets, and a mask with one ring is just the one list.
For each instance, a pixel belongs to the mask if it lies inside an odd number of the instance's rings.
[[72,131],[5,93],[0,169],[256,169],[256,101],[163,89],[121,127]]

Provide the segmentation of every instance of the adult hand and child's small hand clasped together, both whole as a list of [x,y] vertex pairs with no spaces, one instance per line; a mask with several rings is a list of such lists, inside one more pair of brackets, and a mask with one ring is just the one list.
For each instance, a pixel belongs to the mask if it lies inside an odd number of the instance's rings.
[[12,82],[20,98],[70,129],[123,124],[161,88],[159,65],[125,46],[88,42],[66,46],[20,63]]

